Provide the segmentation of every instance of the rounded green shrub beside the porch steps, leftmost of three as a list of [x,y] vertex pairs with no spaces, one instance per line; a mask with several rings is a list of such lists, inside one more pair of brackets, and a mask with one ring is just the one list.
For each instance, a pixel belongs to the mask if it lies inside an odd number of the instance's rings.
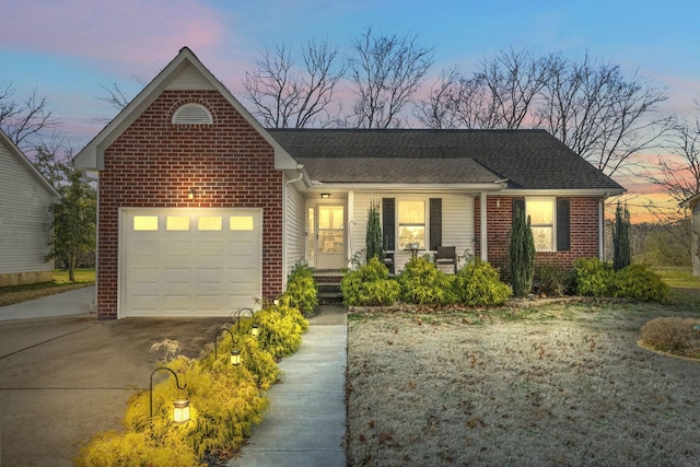
[[340,281],[343,303],[348,306],[386,306],[398,302],[399,285],[375,256]]

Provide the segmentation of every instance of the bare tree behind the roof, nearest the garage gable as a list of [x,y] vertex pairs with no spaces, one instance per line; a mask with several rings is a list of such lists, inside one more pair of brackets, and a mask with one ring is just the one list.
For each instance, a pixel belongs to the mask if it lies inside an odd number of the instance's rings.
[[326,39],[306,43],[303,69],[298,69],[291,50],[277,44],[255,60],[256,71],[243,81],[254,115],[272,128],[325,126],[330,120],[335,86],[345,73],[338,52]]

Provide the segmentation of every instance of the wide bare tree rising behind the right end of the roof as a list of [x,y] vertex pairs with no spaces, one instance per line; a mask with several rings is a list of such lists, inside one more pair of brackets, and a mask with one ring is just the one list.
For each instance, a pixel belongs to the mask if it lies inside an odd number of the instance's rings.
[[581,62],[552,57],[549,68],[540,126],[607,175],[627,170],[667,131],[669,118],[655,115],[666,89],[587,56]]

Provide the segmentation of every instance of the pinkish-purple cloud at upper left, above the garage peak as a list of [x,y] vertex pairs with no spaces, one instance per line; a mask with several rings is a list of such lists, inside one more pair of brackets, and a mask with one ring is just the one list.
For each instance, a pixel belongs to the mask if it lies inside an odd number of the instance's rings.
[[[194,0],[35,0],[10,2],[0,16],[4,48],[163,67],[183,46],[207,50],[224,36],[220,14]],[[113,63],[113,65],[108,65]]]

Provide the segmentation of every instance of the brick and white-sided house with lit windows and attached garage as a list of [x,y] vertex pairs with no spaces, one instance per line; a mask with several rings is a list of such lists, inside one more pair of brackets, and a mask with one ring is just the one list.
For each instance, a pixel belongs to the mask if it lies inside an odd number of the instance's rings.
[[372,200],[397,271],[411,243],[504,268],[514,203],[567,267],[602,256],[625,191],[540,130],[265,129],[188,48],[74,165],[100,174],[101,318],[259,307],[299,260],[347,267]]

